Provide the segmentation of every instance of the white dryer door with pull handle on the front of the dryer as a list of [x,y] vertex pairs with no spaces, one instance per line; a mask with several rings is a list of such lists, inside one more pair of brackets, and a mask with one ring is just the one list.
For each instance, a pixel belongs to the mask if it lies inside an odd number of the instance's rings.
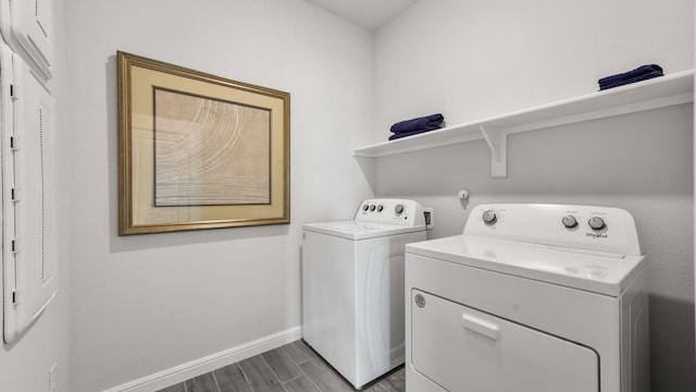
[[413,290],[411,365],[450,392],[599,391],[585,346]]

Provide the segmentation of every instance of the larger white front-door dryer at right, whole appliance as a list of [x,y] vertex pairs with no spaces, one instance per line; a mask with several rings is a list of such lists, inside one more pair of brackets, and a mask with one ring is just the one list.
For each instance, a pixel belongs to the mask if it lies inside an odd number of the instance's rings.
[[625,210],[474,208],[407,245],[407,392],[649,391],[645,270]]

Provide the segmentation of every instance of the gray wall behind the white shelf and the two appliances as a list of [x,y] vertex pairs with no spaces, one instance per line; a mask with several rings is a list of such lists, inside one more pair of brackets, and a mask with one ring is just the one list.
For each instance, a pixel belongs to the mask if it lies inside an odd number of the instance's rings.
[[[691,69],[694,3],[421,1],[375,41],[377,142],[402,119],[440,111],[453,125],[589,94],[598,77],[644,63]],[[691,391],[693,128],[689,103],[514,134],[507,179],[490,177],[483,140],[384,157],[374,188],[435,207],[431,237],[461,233],[483,203],[629,210],[649,255],[652,390]],[[461,188],[472,192],[467,208]]]

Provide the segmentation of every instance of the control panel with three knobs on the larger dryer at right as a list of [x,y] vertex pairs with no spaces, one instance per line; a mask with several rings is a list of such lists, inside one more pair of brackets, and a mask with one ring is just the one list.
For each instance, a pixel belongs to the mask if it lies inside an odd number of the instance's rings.
[[482,205],[464,234],[597,252],[642,255],[635,222],[623,209],[567,205]]

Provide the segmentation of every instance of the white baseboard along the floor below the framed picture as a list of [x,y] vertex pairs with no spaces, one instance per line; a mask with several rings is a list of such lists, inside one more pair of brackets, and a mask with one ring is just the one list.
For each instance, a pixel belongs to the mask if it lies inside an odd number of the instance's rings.
[[219,369],[236,362],[252,357],[269,350],[279,347],[302,338],[300,327],[268,335],[256,341],[221,351],[189,363],[162,370],[154,375],[110,388],[103,392],[154,392],[183,382],[196,376]]

